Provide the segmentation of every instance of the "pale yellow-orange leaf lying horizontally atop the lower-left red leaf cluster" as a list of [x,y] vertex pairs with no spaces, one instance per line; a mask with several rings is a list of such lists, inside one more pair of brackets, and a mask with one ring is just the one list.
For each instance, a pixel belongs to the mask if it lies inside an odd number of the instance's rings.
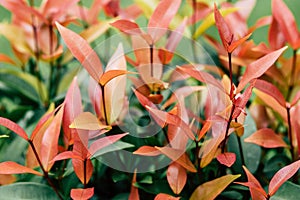
[[83,112],[79,114],[72,124],[70,128],[82,129],[82,130],[102,130],[102,129],[109,129],[110,126],[100,124],[98,118],[90,112]]

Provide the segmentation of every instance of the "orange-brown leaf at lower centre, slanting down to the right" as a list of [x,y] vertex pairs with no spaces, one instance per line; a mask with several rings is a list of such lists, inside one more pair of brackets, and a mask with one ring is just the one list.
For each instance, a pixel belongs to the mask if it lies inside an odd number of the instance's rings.
[[189,170],[190,172],[197,172],[197,169],[190,161],[189,157],[185,154],[183,150],[173,149],[171,147],[155,147],[163,154],[168,156],[174,162],[180,164],[185,169]]

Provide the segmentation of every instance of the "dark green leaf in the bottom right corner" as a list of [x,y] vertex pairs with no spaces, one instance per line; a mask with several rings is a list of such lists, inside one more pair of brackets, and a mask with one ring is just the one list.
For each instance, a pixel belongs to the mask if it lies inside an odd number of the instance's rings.
[[298,200],[300,186],[292,182],[285,182],[279,190],[271,197],[271,200]]

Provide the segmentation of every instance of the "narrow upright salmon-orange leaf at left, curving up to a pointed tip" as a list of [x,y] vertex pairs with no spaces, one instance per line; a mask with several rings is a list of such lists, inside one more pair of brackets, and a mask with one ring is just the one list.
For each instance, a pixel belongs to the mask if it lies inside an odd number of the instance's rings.
[[45,134],[42,139],[41,146],[41,162],[46,171],[49,171],[53,166],[53,163],[50,162],[58,153],[58,138],[61,129],[61,121],[63,117],[62,107],[57,114],[55,115],[53,121],[45,131]]

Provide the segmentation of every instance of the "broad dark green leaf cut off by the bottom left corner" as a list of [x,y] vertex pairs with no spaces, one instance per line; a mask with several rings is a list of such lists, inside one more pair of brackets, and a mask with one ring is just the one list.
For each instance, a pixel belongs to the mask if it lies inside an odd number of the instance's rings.
[[55,192],[47,185],[33,182],[20,182],[0,187],[0,196],[5,199],[55,200]]

